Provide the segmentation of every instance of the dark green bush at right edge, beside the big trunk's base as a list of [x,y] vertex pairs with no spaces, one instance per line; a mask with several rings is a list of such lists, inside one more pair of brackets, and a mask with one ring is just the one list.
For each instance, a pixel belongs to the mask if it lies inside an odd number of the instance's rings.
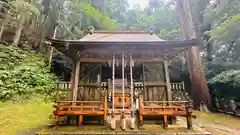
[[214,96],[240,101],[240,64],[212,65],[208,70],[208,83]]

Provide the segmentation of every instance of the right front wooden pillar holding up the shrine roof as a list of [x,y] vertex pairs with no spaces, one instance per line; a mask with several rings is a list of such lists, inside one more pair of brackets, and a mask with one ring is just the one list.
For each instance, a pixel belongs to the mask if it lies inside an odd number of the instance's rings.
[[165,81],[166,81],[166,91],[167,91],[167,101],[172,100],[172,91],[171,91],[171,84],[169,78],[169,71],[168,71],[168,61],[164,60],[164,73],[165,73]]

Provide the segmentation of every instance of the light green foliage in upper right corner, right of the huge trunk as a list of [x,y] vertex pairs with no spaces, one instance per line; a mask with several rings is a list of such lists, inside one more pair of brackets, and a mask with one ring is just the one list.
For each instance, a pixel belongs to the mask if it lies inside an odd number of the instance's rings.
[[218,0],[209,3],[204,10],[203,28],[209,36],[214,61],[235,62],[240,58],[240,2],[239,0]]

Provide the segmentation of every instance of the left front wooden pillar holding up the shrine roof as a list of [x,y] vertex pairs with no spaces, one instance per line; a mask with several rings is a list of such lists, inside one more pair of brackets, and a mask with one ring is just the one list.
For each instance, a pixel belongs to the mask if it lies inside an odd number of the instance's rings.
[[[73,79],[73,92],[72,92],[72,100],[73,101],[77,101],[79,71],[80,71],[80,59],[77,59],[76,64],[75,64],[75,72],[74,72],[74,79]],[[76,102],[73,103],[73,105],[76,105]]]

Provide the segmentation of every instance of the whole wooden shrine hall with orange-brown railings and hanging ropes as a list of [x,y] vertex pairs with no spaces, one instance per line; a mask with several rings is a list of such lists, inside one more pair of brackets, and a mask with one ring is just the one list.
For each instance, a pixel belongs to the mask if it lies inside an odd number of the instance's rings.
[[73,62],[71,96],[56,102],[57,123],[76,116],[76,123],[84,125],[96,117],[111,129],[133,129],[154,119],[166,128],[171,118],[182,116],[192,127],[191,100],[173,98],[185,88],[182,82],[170,82],[168,65],[198,40],[164,41],[152,31],[91,29],[80,40],[48,41]]

